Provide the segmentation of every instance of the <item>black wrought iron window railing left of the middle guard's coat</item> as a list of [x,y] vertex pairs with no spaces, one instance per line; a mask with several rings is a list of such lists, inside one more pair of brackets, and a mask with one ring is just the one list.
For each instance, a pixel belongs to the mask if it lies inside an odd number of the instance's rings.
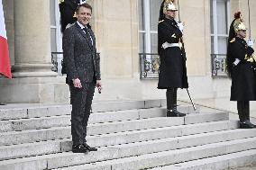
[[153,53],[139,53],[139,56],[141,63],[141,79],[159,78],[159,55]]

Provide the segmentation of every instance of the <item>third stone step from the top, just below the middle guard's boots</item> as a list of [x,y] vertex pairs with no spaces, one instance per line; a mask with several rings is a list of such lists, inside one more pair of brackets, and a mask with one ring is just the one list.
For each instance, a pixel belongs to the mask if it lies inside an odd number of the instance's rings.
[[[198,122],[224,121],[227,119],[228,113],[220,112],[188,114],[184,118],[162,117],[135,121],[116,121],[108,123],[89,124],[87,127],[87,133],[88,135],[96,135],[103,134],[103,132],[112,133],[126,130],[142,130]],[[0,133],[0,146],[67,138],[70,138],[70,127],[53,127],[43,130],[9,131]]]

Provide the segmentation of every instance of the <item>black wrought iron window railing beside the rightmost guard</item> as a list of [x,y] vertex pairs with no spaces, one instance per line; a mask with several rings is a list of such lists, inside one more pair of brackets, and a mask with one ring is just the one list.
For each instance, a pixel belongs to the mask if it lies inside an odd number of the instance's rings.
[[212,76],[213,77],[227,77],[225,54],[211,54],[212,58]]

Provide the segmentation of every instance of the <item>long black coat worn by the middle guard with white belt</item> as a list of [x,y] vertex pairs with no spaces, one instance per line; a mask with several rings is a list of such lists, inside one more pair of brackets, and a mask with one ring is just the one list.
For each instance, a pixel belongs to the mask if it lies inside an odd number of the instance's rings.
[[158,25],[158,36],[160,54],[158,88],[187,88],[186,53],[184,47],[161,48],[164,42],[178,43],[182,38],[182,32],[179,31],[177,22],[169,19],[160,21]]

